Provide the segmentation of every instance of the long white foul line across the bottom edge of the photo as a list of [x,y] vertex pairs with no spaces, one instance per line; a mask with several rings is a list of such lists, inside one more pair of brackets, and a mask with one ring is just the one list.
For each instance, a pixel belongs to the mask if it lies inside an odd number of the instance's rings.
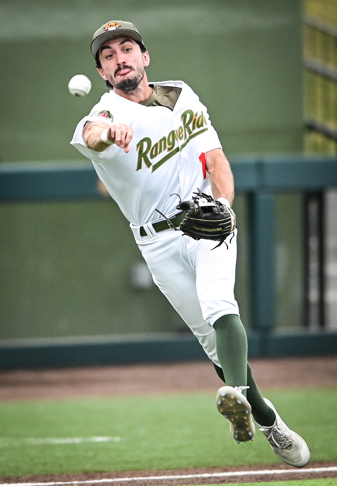
[[193,479],[193,478],[225,478],[231,476],[252,476],[263,474],[286,474],[288,472],[331,472],[337,471],[337,466],[329,468],[307,468],[307,469],[266,469],[262,471],[228,471],[228,472],[205,472],[203,474],[181,474],[176,476],[140,476],[134,478],[113,478],[113,479],[92,479],[86,481],[57,481],[48,483],[0,483],[1,486],[54,486],[54,485],[84,485],[99,483],[120,483],[122,481],[160,481],[164,479]]

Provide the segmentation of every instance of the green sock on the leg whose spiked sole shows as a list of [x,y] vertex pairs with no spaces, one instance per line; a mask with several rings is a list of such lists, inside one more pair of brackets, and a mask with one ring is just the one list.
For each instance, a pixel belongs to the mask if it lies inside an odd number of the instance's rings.
[[[228,386],[247,385],[247,335],[236,314],[221,316],[214,323],[219,362]],[[242,392],[246,396],[246,390]]]

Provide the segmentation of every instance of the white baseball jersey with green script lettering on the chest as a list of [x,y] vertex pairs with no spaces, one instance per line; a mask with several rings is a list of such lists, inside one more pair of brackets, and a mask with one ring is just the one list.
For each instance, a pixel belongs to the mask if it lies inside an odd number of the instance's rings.
[[[113,90],[104,93],[88,116],[81,120],[71,144],[92,160],[98,176],[124,216],[138,226],[177,212],[179,194],[189,200],[197,188],[207,192],[209,177],[204,154],[221,148],[207,108],[183,81],[157,86],[181,88],[173,110],[127,100]],[[133,128],[130,152],[117,145],[103,152],[89,149],[82,136],[86,121],[125,123]],[[208,188],[209,191],[209,188]]]

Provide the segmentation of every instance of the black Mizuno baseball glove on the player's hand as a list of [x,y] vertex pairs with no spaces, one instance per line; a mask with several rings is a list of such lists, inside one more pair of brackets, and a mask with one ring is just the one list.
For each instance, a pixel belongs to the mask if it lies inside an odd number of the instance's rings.
[[187,211],[180,229],[194,240],[219,241],[220,245],[236,228],[233,209],[203,192],[194,194],[191,201],[180,201],[177,205],[177,209]]

